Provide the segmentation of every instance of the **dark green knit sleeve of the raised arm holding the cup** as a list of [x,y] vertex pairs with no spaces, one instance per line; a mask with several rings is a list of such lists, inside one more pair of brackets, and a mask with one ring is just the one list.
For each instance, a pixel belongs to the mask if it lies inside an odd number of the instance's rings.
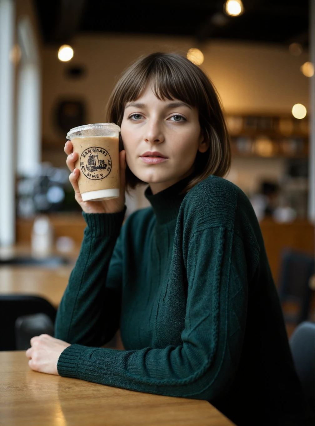
[[57,339],[101,346],[119,328],[122,271],[119,233],[125,210],[126,207],[119,213],[83,213],[87,227],[57,311],[54,333]]

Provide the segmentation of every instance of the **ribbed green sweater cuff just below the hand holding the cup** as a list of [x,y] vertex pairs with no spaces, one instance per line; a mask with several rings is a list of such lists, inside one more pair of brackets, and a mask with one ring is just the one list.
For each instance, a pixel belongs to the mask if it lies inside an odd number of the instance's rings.
[[118,213],[84,213],[82,216],[88,229],[86,230],[94,237],[109,235],[118,235],[125,217],[126,205],[124,210]]

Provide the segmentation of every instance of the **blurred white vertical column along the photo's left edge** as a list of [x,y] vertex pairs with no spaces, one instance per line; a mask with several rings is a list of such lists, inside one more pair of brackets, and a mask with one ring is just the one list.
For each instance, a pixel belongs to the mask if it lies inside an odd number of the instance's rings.
[[14,185],[14,1],[0,0],[0,245],[15,241]]

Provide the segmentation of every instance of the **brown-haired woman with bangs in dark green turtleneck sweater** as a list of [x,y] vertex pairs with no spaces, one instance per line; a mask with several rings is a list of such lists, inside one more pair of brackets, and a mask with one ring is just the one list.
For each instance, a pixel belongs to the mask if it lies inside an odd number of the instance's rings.
[[[108,103],[121,127],[120,197],[83,202],[87,223],[55,338],[34,337],[32,369],[210,401],[237,425],[302,424],[303,402],[261,231],[222,178],[230,146],[218,95],[176,54],[140,58]],[[127,188],[152,207],[125,224]],[[100,348],[120,328],[125,350]]]

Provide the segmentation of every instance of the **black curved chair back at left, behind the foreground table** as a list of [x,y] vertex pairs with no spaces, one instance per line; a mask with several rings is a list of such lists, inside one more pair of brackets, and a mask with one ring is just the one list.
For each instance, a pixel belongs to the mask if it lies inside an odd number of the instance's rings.
[[0,351],[17,350],[15,341],[15,322],[18,317],[33,314],[46,314],[54,324],[56,309],[38,296],[1,295],[0,296]]

